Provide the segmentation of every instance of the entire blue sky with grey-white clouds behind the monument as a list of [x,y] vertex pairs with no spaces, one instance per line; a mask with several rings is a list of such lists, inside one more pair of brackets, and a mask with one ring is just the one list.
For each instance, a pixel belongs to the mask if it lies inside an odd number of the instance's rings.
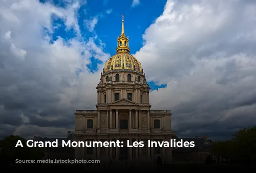
[[0,138],[66,136],[75,110],[96,109],[121,15],[177,136],[255,126],[256,1],[0,0]]

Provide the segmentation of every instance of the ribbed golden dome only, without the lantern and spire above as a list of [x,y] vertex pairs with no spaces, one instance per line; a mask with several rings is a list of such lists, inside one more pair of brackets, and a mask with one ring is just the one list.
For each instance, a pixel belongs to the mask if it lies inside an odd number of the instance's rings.
[[126,52],[119,52],[106,61],[103,72],[115,69],[131,69],[143,72],[140,62],[134,56]]

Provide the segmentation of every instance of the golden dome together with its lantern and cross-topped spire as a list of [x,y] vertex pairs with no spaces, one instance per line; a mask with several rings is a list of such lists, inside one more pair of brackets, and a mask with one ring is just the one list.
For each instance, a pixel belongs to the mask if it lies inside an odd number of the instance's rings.
[[[124,17],[124,15],[122,15]],[[104,66],[103,72],[116,69],[130,69],[143,72],[140,62],[132,56],[129,48],[129,37],[124,34],[124,20],[122,19],[121,36],[117,36],[117,54],[111,57]]]

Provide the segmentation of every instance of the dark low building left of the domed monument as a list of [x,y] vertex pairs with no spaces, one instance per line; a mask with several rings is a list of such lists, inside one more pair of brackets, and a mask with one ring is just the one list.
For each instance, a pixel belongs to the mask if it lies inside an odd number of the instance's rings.
[[71,161],[74,159],[74,149],[72,147],[62,147],[62,140],[65,140],[68,142],[69,140],[72,140],[73,133],[71,131],[68,131],[68,136],[66,138],[48,138],[48,137],[40,137],[40,136],[34,136],[34,141],[56,141],[58,140],[58,147],[44,147],[44,154],[45,156],[42,158],[44,161]]

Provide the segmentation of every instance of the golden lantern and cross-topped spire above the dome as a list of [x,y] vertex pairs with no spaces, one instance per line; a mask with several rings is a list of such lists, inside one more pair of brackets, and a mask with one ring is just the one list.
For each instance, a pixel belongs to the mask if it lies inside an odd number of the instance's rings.
[[117,48],[116,52],[127,52],[130,53],[130,48],[129,48],[129,37],[125,37],[124,34],[124,20],[123,20],[124,15],[122,15],[122,31],[120,38],[117,36]]

